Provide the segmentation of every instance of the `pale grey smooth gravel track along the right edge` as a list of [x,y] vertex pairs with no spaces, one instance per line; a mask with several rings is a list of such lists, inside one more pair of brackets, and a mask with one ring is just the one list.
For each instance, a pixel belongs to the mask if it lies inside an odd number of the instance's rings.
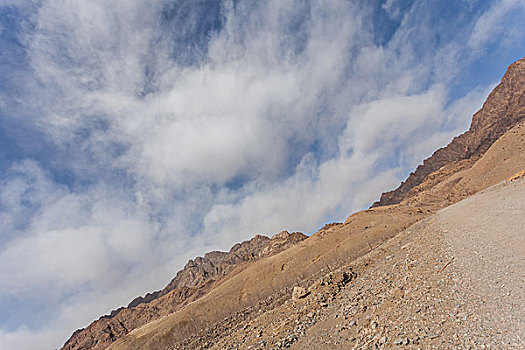
[[489,348],[525,348],[525,183],[498,185],[442,210],[434,222],[454,257],[454,289],[469,332]]

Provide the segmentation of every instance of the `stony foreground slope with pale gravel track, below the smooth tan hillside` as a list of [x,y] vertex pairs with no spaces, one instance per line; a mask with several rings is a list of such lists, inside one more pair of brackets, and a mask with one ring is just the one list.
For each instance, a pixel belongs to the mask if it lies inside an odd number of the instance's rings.
[[325,271],[303,298],[289,291],[173,349],[523,349],[524,274],[522,179]]

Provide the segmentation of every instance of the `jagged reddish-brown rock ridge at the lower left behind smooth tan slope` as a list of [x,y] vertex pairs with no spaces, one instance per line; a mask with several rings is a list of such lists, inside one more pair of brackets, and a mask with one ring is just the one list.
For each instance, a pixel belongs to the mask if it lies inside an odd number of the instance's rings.
[[213,251],[189,260],[164,289],[137,297],[127,307],[114,310],[87,328],[75,331],[62,349],[105,349],[133,329],[206,294],[226,275],[240,268],[241,263],[275,255],[306,237],[299,232],[287,231],[272,238],[256,235],[249,241],[237,243],[229,252]]

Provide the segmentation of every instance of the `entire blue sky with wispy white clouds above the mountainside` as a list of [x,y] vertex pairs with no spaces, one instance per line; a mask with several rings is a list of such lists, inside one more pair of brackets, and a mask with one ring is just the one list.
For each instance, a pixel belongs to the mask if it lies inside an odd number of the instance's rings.
[[59,347],[256,233],[315,232],[468,128],[525,2],[0,4],[0,348]]

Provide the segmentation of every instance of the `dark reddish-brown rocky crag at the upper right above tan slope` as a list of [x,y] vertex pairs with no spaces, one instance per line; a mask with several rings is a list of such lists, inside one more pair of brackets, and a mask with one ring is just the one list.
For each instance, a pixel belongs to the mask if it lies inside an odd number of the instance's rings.
[[472,117],[468,131],[438,149],[409,175],[406,181],[383,193],[372,207],[397,204],[413,195],[411,190],[441,167],[477,159],[505,132],[525,119],[525,58],[510,65],[501,83],[492,91],[483,107]]

